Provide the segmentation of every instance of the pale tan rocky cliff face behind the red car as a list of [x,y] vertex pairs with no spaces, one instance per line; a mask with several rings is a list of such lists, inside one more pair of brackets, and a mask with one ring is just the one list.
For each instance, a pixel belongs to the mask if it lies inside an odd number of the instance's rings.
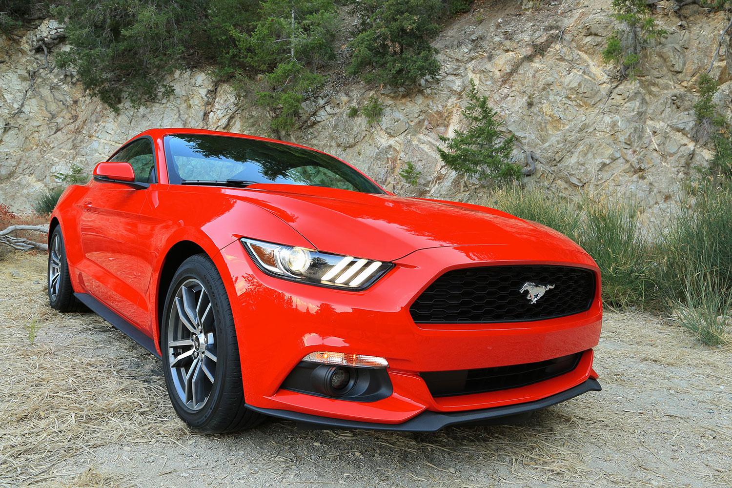
[[[616,77],[602,61],[616,29],[609,1],[554,1],[524,12],[518,2],[477,7],[448,26],[434,45],[442,71],[412,92],[353,83],[328,89],[305,104],[310,119],[289,138],[354,163],[392,191],[452,200],[485,201],[490,189],[466,181],[442,164],[438,135],[462,123],[465,91],[474,80],[504,118],[524,151],[538,158],[528,185],[598,198],[621,192],[647,217],[662,217],[679,185],[712,154],[695,142],[696,79],[706,71],[728,20],[695,5],[673,11],[657,4],[668,35],[641,57],[643,75]],[[27,211],[56,184],[54,173],[72,163],[91,172],[127,138],[149,127],[203,127],[269,134],[266,114],[238,99],[230,86],[214,86],[203,72],[179,72],[175,94],[119,114],[84,94],[72,72],[48,63],[38,40],[59,41],[60,26],[44,21],[20,42],[0,40],[0,202]],[[53,42],[52,42],[53,41]],[[35,49],[34,49],[35,48]],[[724,51],[724,49],[722,49]],[[728,108],[732,83],[722,52],[712,69]],[[384,104],[376,124],[348,118],[351,106],[372,95]],[[406,162],[421,172],[415,186],[399,176]]]

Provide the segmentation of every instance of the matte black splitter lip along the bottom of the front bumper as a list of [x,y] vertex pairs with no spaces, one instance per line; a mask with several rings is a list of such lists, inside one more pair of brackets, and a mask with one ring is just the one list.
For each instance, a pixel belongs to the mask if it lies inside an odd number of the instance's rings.
[[588,378],[584,383],[561,391],[551,397],[542,398],[534,402],[519,403],[518,405],[506,405],[504,407],[485,408],[483,410],[467,410],[464,412],[432,412],[427,410],[402,424],[376,424],[373,422],[360,422],[354,420],[343,420],[341,418],[329,418],[308,413],[291,412],[289,410],[277,410],[275,408],[259,408],[247,405],[247,408],[264,415],[285,418],[296,421],[300,424],[312,424],[325,429],[370,429],[370,430],[397,430],[403,432],[436,432],[443,427],[458,424],[479,424],[484,421],[491,421],[496,418],[520,415],[534,410],[547,408],[550,405],[564,402],[570,398],[577,397],[587,391],[601,391],[602,386],[597,380]]

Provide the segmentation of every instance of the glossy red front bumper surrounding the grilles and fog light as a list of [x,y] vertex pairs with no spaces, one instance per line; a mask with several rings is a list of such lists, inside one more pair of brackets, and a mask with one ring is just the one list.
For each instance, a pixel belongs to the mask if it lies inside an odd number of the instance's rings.
[[[222,252],[234,283],[231,304],[242,358],[244,397],[252,409],[270,415],[276,412],[275,416],[303,416],[302,421],[327,418],[329,422],[355,422],[367,428],[378,428],[371,427],[373,424],[399,427],[417,418],[439,418],[438,424],[444,421],[447,425],[460,423],[463,414],[470,418],[468,413],[501,416],[496,414],[501,410],[496,409],[532,405],[597,379],[591,348],[597,345],[602,323],[599,274],[591,308],[564,318],[526,323],[416,324],[409,314],[417,296],[450,269],[543,263],[583,266],[597,272],[597,266],[583,252],[523,249],[521,258],[516,259],[515,249],[502,245],[422,249],[397,260],[386,276],[359,292],[270,277],[255,266],[239,241]],[[354,402],[280,388],[302,358],[317,350],[386,358],[393,393],[374,402]],[[584,352],[583,357],[572,372],[521,388],[482,394],[436,398],[419,375],[526,364],[580,352]]]

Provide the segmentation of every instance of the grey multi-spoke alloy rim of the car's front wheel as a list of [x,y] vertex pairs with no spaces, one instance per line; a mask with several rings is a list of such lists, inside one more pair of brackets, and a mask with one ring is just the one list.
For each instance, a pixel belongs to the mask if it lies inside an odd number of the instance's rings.
[[216,380],[216,323],[211,299],[198,279],[176,290],[168,314],[168,364],[179,399],[201,410]]

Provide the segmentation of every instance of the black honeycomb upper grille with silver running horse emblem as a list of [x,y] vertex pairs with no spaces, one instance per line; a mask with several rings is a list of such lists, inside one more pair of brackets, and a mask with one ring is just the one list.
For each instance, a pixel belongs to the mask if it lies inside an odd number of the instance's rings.
[[[526,282],[554,285],[531,303]],[[593,271],[568,266],[485,266],[447,271],[409,309],[417,323],[524,322],[564,317],[589,309]]]

